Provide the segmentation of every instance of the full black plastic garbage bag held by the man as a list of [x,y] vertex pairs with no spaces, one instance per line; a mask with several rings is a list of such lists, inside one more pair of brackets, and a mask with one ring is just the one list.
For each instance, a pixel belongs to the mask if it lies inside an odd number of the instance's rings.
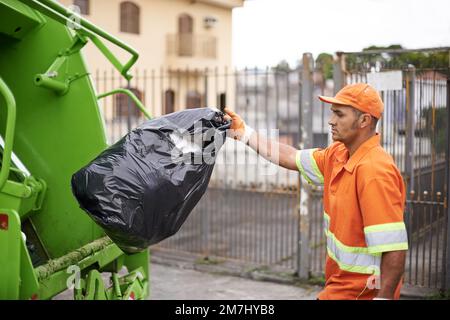
[[199,108],[132,130],[72,176],[72,192],[125,252],[175,234],[206,191],[230,123]]

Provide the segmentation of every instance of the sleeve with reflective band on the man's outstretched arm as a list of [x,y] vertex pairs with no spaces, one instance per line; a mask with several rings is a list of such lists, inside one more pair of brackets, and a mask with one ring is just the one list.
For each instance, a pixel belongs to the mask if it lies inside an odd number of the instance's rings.
[[295,158],[297,168],[303,178],[316,186],[323,185],[326,149],[298,150]]

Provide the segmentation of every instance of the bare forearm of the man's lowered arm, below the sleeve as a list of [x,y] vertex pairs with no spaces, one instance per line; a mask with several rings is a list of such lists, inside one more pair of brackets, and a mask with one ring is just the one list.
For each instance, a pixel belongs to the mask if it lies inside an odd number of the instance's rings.
[[393,299],[405,271],[406,251],[384,252],[381,257],[381,288],[377,297]]

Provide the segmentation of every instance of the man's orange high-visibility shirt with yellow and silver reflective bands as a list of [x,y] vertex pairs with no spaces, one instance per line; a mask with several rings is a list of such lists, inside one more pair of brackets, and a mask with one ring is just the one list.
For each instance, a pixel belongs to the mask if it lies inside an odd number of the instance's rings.
[[[345,145],[335,142],[299,150],[296,162],[310,184],[324,186],[326,283],[319,299],[373,299],[382,253],[408,250],[405,186],[392,157],[377,134],[350,158]],[[396,299],[400,288],[401,281]]]

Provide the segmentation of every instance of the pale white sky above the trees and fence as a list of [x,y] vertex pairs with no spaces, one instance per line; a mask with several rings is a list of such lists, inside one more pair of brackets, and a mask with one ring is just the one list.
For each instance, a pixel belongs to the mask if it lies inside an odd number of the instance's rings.
[[247,0],[233,10],[238,67],[390,44],[450,46],[450,0]]

